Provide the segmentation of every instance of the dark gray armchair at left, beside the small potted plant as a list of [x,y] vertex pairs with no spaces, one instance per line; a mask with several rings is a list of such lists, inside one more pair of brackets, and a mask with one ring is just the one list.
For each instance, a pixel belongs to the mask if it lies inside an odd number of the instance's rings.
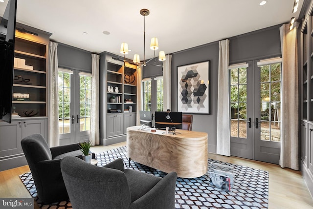
[[44,203],[68,200],[60,161],[65,156],[81,157],[78,144],[49,148],[41,134],[27,136],[21,144],[39,199]]

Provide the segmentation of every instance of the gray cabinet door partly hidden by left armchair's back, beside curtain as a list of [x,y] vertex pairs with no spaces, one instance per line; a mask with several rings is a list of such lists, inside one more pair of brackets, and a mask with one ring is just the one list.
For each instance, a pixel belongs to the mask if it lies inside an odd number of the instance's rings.
[[[22,138],[40,133],[45,137],[45,120],[25,120],[22,121]],[[45,138],[45,140],[47,140]],[[47,142],[48,143],[48,142]]]

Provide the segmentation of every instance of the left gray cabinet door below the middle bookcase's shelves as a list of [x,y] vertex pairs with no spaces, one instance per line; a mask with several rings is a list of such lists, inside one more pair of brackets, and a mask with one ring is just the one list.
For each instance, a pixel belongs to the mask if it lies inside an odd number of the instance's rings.
[[107,115],[107,137],[123,134],[123,114]]

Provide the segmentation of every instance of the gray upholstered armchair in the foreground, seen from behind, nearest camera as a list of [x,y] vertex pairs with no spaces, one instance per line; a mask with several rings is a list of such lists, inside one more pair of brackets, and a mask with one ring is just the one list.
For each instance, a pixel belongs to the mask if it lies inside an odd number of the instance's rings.
[[104,167],[65,157],[61,170],[73,209],[174,209],[177,173],[156,177],[124,169],[122,159]]

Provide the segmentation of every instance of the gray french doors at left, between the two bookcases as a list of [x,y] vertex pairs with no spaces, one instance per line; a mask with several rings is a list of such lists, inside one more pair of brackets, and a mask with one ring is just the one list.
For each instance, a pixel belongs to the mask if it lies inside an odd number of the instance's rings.
[[60,145],[89,139],[91,75],[58,70]]

